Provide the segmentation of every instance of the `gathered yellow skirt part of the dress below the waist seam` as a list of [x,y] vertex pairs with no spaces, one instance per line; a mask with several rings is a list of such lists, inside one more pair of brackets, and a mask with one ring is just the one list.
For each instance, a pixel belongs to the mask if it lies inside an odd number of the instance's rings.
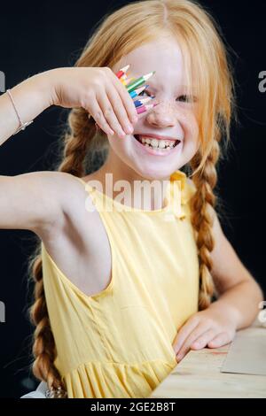
[[62,377],[68,398],[149,397],[176,366],[176,358],[138,364],[88,362]]

